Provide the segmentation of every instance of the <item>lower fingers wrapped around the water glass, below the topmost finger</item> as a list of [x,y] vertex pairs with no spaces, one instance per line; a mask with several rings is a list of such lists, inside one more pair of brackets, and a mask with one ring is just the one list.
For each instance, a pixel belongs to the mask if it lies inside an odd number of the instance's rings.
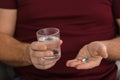
[[45,60],[45,59],[43,59],[44,56],[50,56],[50,55],[53,55],[53,53],[51,53],[51,51],[48,51],[48,53],[36,51],[31,55],[32,64],[37,69],[51,68],[57,62],[57,60]]

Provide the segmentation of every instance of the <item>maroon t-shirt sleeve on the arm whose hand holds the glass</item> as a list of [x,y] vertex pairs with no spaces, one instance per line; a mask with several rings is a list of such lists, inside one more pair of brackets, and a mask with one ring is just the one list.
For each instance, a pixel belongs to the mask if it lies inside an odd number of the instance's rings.
[[0,0],[0,8],[16,9],[17,0]]

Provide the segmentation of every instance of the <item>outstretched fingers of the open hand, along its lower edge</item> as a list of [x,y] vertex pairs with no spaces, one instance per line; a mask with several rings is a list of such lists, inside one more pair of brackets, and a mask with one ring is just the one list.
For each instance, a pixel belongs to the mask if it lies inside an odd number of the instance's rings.
[[102,57],[90,58],[88,61],[83,62],[82,60],[73,59],[66,63],[67,67],[74,67],[76,69],[92,69],[100,65]]

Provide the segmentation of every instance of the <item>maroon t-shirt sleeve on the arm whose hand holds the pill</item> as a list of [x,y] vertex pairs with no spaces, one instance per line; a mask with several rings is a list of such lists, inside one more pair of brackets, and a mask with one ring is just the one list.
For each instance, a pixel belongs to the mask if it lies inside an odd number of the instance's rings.
[[113,0],[113,13],[116,18],[120,18],[120,0]]

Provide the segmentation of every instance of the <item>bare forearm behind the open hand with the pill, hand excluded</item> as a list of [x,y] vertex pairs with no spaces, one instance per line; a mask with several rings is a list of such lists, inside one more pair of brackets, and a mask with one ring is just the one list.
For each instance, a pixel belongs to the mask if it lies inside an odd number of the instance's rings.
[[108,58],[111,60],[120,60],[120,37],[103,41],[103,43],[107,46]]

